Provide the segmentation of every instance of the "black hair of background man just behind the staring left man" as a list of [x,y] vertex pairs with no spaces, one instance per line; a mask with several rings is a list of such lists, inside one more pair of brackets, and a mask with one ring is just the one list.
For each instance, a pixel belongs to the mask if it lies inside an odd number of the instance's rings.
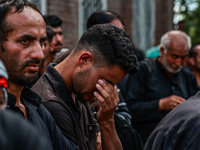
[[54,28],[62,26],[62,20],[56,15],[44,15],[43,18],[48,26],[52,26]]

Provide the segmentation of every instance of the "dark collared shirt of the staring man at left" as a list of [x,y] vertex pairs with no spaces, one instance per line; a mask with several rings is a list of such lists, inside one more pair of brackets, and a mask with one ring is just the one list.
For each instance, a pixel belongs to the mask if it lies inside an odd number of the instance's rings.
[[[75,145],[62,135],[53,117],[42,105],[41,98],[37,94],[25,87],[21,93],[21,101],[26,107],[28,121],[47,138],[49,145],[53,146],[54,150],[77,149]],[[15,106],[15,103],[15,96],[8,93],[7,109],[23,115],[21,110]]]

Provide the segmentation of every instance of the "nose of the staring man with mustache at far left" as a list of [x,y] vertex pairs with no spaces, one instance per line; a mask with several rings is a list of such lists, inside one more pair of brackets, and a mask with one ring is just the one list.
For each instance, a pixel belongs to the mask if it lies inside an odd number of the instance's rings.
[[[44,46],[44,45],[42,45]],[[30,54],[31,59],[42,60],[44,58],[43,48],[40,42],[36,42],[32,47],[32,52]]]

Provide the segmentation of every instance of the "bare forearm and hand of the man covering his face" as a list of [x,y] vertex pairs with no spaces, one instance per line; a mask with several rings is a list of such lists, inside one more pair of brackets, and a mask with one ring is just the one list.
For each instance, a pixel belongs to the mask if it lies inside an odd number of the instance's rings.
[[100,104],[97,120],[101,130],[102,149],[122,150],[114,122],[114,112],[119,103],[117,87],[105,80],[99,80],[96,88],[98,92],[94,92],[94,95]]

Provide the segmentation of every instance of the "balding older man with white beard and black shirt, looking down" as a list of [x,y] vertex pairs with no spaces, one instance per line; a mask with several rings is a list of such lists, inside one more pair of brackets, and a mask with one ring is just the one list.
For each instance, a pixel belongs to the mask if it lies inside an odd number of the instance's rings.
[[136,75],[128,75],[120,87],[132,115],[132,125],[143,143],[159,121],[193,96],[198,88],[194,75],[184,68],[190,38],[181,31],[169,31],[161,38],[161,56],[143,61]]

